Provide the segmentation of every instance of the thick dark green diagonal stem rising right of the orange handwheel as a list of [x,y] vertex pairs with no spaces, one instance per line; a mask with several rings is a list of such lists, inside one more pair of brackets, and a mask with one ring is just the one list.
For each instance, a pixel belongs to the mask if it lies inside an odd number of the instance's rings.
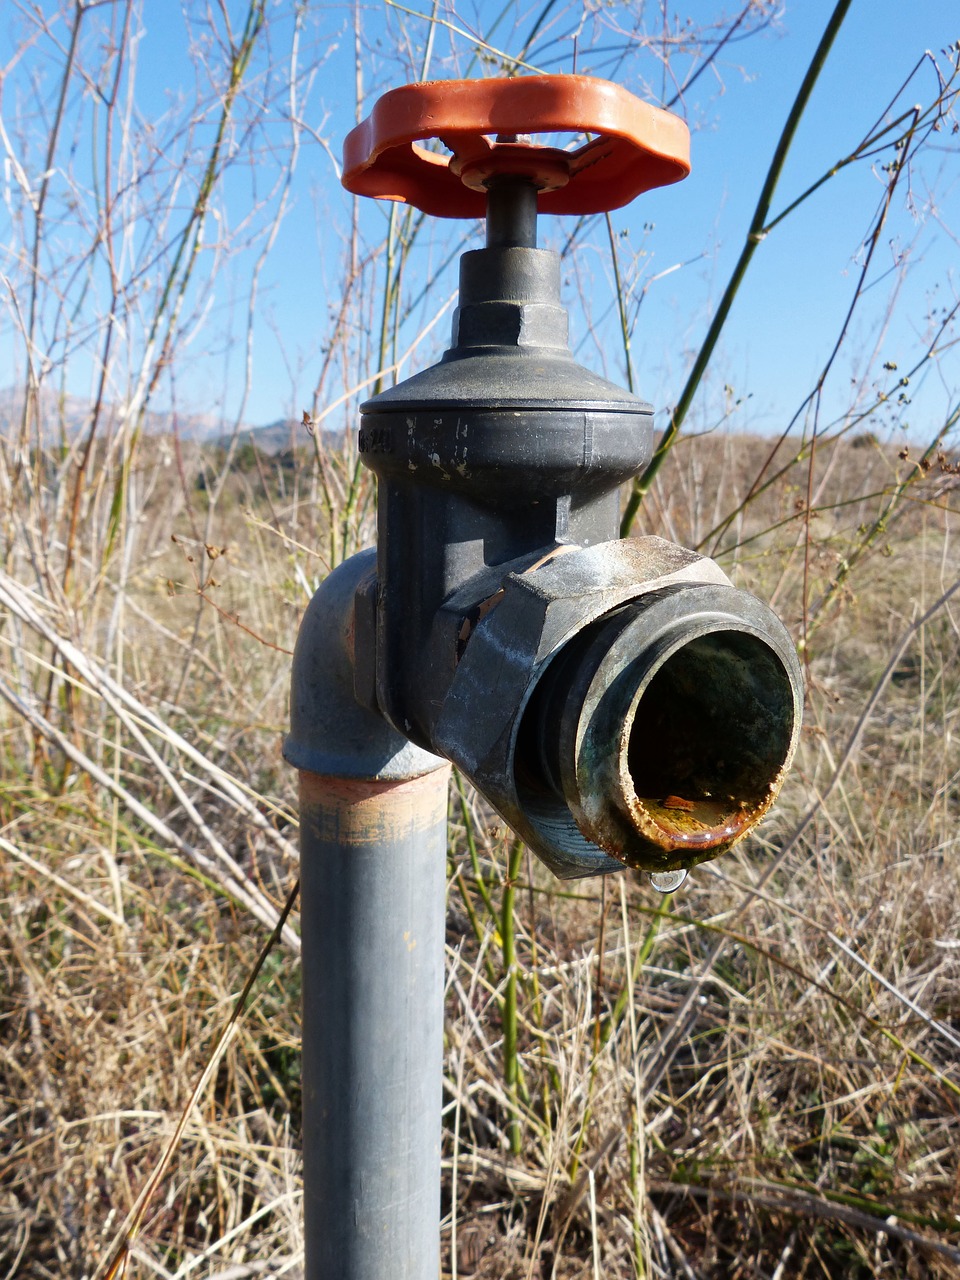
[[783,125],[780,138],[777,140],[777,147],[773,152],[771,166],[767,170],[767,178],[764,179],[760,197],[756,201],[756,209],[754,210],[754,216],[750,221],[744,247],[740,251],[740,259],[737,260],[733,273],[727,282],[723,297],[721,298],[719,306],[717,307],[713,320],[710,321],[710,328],[707,330],[707,337],[696,353],[694,367],[690,370],[690,375],[687,376],[676,408],[671,413],[669,424],[657,445],[657,451],[644,474],[634,481],[634,488],[621,521],[620,531],[622,538],[626,538],[634,527],[634,521],[636,520],[640,504],[649,493],[650,485],[657,479],[657,474],[663,466],[667,454],[680,434],[680,428],[690,411],[690,406],[692,404],[694,397],[696,396],[700,385],[700,379],[710,362],[710,357],[713,356],[717,342],[719,340],[719,335],[723,332],[723,325],[727,323],[730,308],[733,306],[733,300],[737,296],[737,291],[740,289],[742,279],[746,275],[746,270],[750,266],[754,253],[756,252],[756,246],[767,234],[765,224],[771,210],[771,201],[773,200],[773,192],[776,191],[777,183],[780,182],[780,177],[783,172],[783,164],[786,161],[787,152],[790,151],[790,145],[794,141],[794,136],[797,131],[800,120],[803,119],[804,111],[806,110],[810,95],[813,93],[814,86],[817,84],[819,74],[827,61],[827,55],[829,54],[837,32],[846,18],[852,0],[837,0],[837,5],[831,14],[827,27],[824,28],[820,42],[817,46],[817,51],[810,60],[810,65],[806,68],[806,74],[804,76],[800,90],[794,99],[794,105],[790,109],[786,124]]

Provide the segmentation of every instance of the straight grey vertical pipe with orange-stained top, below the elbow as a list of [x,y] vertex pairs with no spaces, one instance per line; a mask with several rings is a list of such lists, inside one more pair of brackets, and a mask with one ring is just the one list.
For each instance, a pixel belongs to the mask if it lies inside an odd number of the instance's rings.
[[301,772],[306,1280],[436,1280],[448,768]]

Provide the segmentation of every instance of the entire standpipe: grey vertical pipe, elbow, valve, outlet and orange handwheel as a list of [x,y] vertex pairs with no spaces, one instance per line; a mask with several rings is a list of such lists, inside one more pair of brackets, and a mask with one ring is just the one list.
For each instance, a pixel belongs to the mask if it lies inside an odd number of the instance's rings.
[[[479,83],[387,95],[348,141],[351,189],[451,214],[453,188],[424,174],[460,174],[490,221],[461,260],[451,349],[361,408],[378,550],[321,585],[293,660],[306,1280],[439,1274],[444,759],[557,874],[627,863],[675,888],[759,820],[799,733],[773,613],[709,559],[617,539],[653,411],[576,364],[559,259],[535,247],[538,202],[579,207],[535,187],[572,175],[575,201],[613,207],[682,175],[685,128],[599,82]],[[598,132],[628,118],[667,143],[637,161],[636,137],[556,154],[486,137],[593,127],[575,101],[612,104]],[[463,104],[493,114],[457,132]],[[452,163],[411,146],[438,120]]]

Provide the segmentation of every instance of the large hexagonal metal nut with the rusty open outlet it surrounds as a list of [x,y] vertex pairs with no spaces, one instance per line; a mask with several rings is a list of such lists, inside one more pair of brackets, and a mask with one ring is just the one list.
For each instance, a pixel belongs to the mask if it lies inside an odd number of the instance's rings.
[[[460,617],[470,594],[444,613]],[[799,737],[800,666],[772,611],[713,561],[660,538],[568,548],[507,573],[488,600],[434,746],[557,876],[694,867],[763,817]],[[648,755],[672,763],[655,774]],[[736,831],[723,809],[680,838],[726,780],[746,801],[730,810],[744,812]],[[671,797],[700,808],[654,812]]]

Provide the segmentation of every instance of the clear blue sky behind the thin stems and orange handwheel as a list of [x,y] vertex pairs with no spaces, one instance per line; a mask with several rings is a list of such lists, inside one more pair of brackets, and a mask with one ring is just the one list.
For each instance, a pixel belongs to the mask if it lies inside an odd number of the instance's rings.
[[[641,9],[640,5],[622,6],[621,20],[631,8],[635,13]],[[649,8],[655,14],[660,12],[659,5]],[[771,26],[726,47],[681,104],[692,128],[690,178],[652,192],[630,209],[614,214],[616,229],[626,233],[621,239],[622,269],[631,275],[635,265],[636,288],[646,285],[634,333],[637,389],[658,408],[669,406],[682,387],[692,352],[705,333],[712,310],[742,246],[780,131],[832,8],[822,0],[769,5],[774,15]],[[241,22],[244,9],[243,4],[227,5],[234,23]],[[367,108],[376,92],[411,78],[396,50],[398,37],[404,37],[412,56],[420,56],[417,50],[428,23],[407,12],[416,9],[428,10],[426,0],[419,0],[419,4],[411,0],[406,8],[370,0],[357,10],[362,27]],[[530,31],[534,18],[543,9],[543,4],[529,8],[506,5],[503,22],[490,37],[492,44],[517,54],[521,35]],[[119,5],[116,12],[120,12]],[[136,101],[141,123],[150,123],[151,118],[172,118],[178,100],[189,102],[195,93],[197,72],[192,50],[196,51],[205,40],[212,41],[214,31],[205,26],[202,14],[198,17],[198,6],[187,6],[184,12],[189,20],[166,0],[145,0],[134,10],[138,15],[134,26],[140,33]],[[489,31],[500,5],[475,4],[457,10],[442,5],[439,12],[462,29]],[[721,12],[718,4],[691,0],[682,10],[671,9],[669,14],[675,19],[673,29],[682,29],[687,18],[696,26],[716,20]],[[257,54],[252,67],[253,76],[259,77],[257,92],[268,104],[257,124],[257,145],[264,160],[256,174],[250,168],[242,168],[228,177],[218,206],[219,220],[207,223],[201,255],[205,255],[206,262],[216,256],[216,237],[228,227],[234,233],[238,228],[242,230],[243,219],[256,204],[256,197],[262,196],[278,177],[279,170],[271,168],[270,155],[262,148],[280,146],[289,137],[289,122],[284,118],[289,96],[283,90],[283,76],[275,72],[269,81],[265,68],[268,54],[279,64],[289,54],[293,5],[269,5],[268,14],[269,49],[265,46]],[[308,5],[302,22],[300,88],[308,128],[301,134],[301,154],[287,193],[285,216],[276,228],[270,256],[259,276],[251,380],[243,407],[243,417],[250,424],[264,424],[287,415],[300,416],[300,411],[310,403],[324,360],[323,342],[329,332],[329,316],[339,305],[351,205],[337,184],[333,156],[339,154],[342,138],[353,124],[355,115],[352,14],[352,6]],[[572,69],[575,42],[570,33],[576,17],[575,5],[553,6],[550,22],[544,26],[541,40],[539,45],[534,44],[530,54],[541,69]],[[24,104],[31,101],[31,84],[37,82],[37,77],[46,76],[46,101],[50,101],[58,50],[64,47],[63,26],[58,40],[37,37],[26,51],[22,46],[23,22],[5,10],[0,26],[3,64],[15,60],[0,110],[17,151],[17,127]],[[913,102],[928,102],[936,92],[932,64],[918,72],[905,92],[899,95],[899,90],[924,50],[934,52],[946,68],[940,50],[957,36],[960,14],[955,14],[954,6],[943,0],[911,0],[909,5],[893,0],[854,0],[790,152],[774,197],[774,211],[849,154],[884,113],[890,118]],[[19,58],[18,42],[22,46]],[[608,46],[613,42],[612,37],[607,40]],[[620,70],[631,88],[640,87],[645,79],[654,96],[668,90],[655,50],[639,50],[631,60],[612,68],[603,47],[603,40],[595,40],[593,46],[588,41],[577,44],[577,69],[613,74],[614,78]],[[211,44],[210,58],[212,50]],[[438,28],[434,67],[440,74],[451,74],[448,68],[461,74],[480,73],[483,68],[475,63],[471,65],[471,56],[470,40],[452,35],[449,27]],[[682,61],[676,65],[682,68]],[[20,77],[19,83],[17,77]],[[38,99],[42,97],[40,93]],[[40,122],[42,125],[45,119],[41,113],[35,124]],[[81,120],[79,114],[77,119]],[[102,122],[95,122],[91,131],[101,127]],[[86,145],[84,136],[83,127],[78,124],[72,143],[73,163],[77,148],[82,152]],[[910,201],[899,198],[891,207],[872,264],[870,289],[854,319],[849,353],[841,355],[828,387],[829,412],[846,410],[851,378],[860,376],[865,370],[868,384],[874,384],[877,379],[890,380],[891,371],[883,370],[884,362],[896,364],[897,370],[913,362],[923,349],[931,307],[948,306],[957,298],[957,136],[948,131],[933,140],[936,146],[927,148],[909,175]],[[860,161],[850,166],[759,247],[724,330],[722,347],[708,370],[703,396],[690,419],[692,426],[712,425],[724,403],[735,399],[742,401],[733,419],[735,425],[772,431],[791,420],[814,384],[849,306],[863,257],[864,237],[884,189],[886,175],[879,165],[890,159],[887,152],[874,163]],[[9,166],[8,154],[8,196]],[[900,189],[906,195],[905,178]],[[227,416],[238,411],[246,353],[246,298],[253,262],[278,200],[279,195],[274,192],[260,223],[255,219],[259,238],[252,239],[251,248],[221,269],[205,293],[198,292],[197,320],[189,330],[191,342],[184,348],[175,383],[164,380],[157,385],[155,403],[161,404],[166,398],[174,399],[183,410],[210,410],[215,403]],[[366,244],[374,244],[385,227],[388,210],[371,202],[364,204],[369,207],[362,210],[361,234]],[[15,246],[18,236],[28,241],[23,230],[27,224],[22,220],[18,224],[12,216],[14,206],[15,192],[14,204],[9,198],[5,202],[6,212],[0,207],[0,219],[9,218],[4,237],[8,246]],[[564,229],[557,225],[558,221],[541,219],[541,242],[558,243],[562,239]],[[69,220],[59,234],[68,244]],[[444,244],[449,243],[449,227],[428,230],[422,246],[411,256],[404,278],[407,296],[417,292],[424,276],[430,275],[433,265],[443,256]],[[634,260],[634,253],[641,256]],[[897,270],[897,264],[902,268],[904,261],[909,261],[910,266],[906,273]],[[9,264],[8,259],[5,273],[10,270]],[[576,276],[595,308],[593,338],[572,287],[575,276],[568,271],[566,278],[571,282],[568,302],[580,358],[622,381],[625,362],[612,323],[609,248],[602,225],[594,229],[589,246],[581,250]],[[374,273],[369,291],[375,293],[381,283],[381,273]],[[426,305],[415,314],[413,321],[421,325],[428,323],[431,308],[435,310],[452,287],[449,274],[438,280],[436,289],[428,296]],[[896,307],[891,312],[893,289]],[[370,323],[375,307],[376,301],[371,297],[366,311]],[[420,362],[435,358],[447,329],[448,320],[444,317],[413,358]],[[9,384],[14,376],[22,375],[23,367],[9,307],[0,338],[4,343],[8,338],[13,339],[8,343],[5,357],[0,355],[0,362],[5,360],[10,370],[9,375],[0,372],[0,384]],[[131,339],[131,348],[134,347]],[[867,367],[870,352],[874,358]],[[69,389],[82,396],[92,383],[96,361],[82,343],[77,344],[72,360]],[[946,352],[936,370],[931,366],[924,387],[919,390],[910,388],[913,403],[891,415],[891,421],[893,417],[900,424],[910,421],[915,431],[924,434],[937,415],[946,412],[952,403],[951,396],[956,394],[960,383],[957,364],[955,352]],[[732,394],[724,396],[724,385],[732,388]],[[913,394],[915,390],[916,396]],[[332,425],[343,424],[332,420]]]

